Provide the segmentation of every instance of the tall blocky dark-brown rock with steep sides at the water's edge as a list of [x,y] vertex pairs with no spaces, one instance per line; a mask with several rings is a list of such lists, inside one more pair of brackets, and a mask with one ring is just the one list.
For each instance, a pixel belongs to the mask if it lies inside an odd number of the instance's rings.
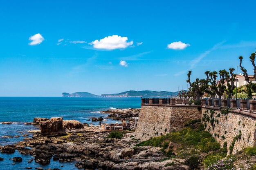
[[39,128],[43,136],[66,135],[63,129],[63,117],[52,117],[49,121],[40,121]]

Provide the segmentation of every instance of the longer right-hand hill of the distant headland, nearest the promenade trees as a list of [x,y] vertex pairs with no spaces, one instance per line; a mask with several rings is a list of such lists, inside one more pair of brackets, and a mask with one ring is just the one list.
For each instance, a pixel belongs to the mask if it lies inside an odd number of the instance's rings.
[[117,94],[101,94],[102,97],[169,97],[176,96],[177,92],[156,92],[150,90],[134,91],[130,90],[127,92],[117,93]]

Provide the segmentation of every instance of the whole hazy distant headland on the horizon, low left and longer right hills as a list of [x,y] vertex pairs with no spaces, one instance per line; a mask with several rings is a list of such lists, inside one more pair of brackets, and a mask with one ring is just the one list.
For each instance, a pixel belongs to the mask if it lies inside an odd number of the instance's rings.
[[117,94],[101,94],[96,95],[96,94],[91,94],[88,92],[75,92],[75,93],[62,93],[63,97],[170,97],[170,96],[177,96],[177,92],[166,92],[166,91],[161,91],[161,92],[156,92],[156,91],[151,91],[151,90],[142,90],[142,91],[135,91],[135,90],[130,90],[126,92],[121,92]]

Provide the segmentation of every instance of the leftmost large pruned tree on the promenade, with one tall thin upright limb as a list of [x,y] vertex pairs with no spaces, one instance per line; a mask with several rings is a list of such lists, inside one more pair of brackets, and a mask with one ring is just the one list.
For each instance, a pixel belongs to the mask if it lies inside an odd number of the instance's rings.
[[191,71],[188,73],[187,83],[190,85],[190,90],[195,93],[195,104],[201,103],[201,98],[204,95],[205,90],[208,88],[208,81],[204,79],[196,78],[195,81],[191,83],[190,80]]

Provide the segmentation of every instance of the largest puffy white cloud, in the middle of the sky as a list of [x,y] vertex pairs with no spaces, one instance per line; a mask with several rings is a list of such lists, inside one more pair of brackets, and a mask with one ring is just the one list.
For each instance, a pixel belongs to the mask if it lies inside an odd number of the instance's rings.
[[97,49],[124,49],[133,44],[133,41],[127,42],[127,40],[127,37],[113,35],[100,40],[94,40],[89,44]]

